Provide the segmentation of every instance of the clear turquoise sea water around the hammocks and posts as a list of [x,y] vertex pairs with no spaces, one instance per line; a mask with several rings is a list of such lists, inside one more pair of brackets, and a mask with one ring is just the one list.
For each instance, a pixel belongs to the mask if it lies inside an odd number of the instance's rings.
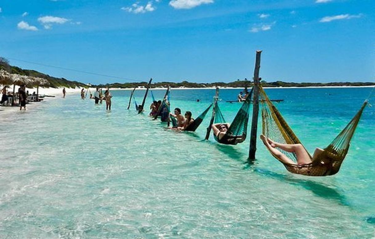
[[[269,89],[309,151],[345,127],[370,88]],[[153,91],[161,98],[163,91]],[[231,121],[239,90],[220,90]],[[240,145],[175,133],[126,110],[130,91],[105,104],[50,98],[0,111],[0,238],[374,238],[375,108],[366,108],[340,172],[293,175],[258,140]],[[136,91],[141,102],[144,91]],[[172,90],[193,117],[214,90]],[[200,99],[200,102],[196,102]],[[147,106],[150,97],[147,99]],[[260,130],[260,128],[259,128]]]

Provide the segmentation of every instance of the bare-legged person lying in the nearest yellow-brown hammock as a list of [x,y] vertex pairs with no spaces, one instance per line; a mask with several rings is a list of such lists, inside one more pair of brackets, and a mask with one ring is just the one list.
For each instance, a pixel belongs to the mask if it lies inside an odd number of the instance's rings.
[[[274,155],[276,158],[278,158],[279,161],[282,163],[287,164],[309,164],[314,161],[314,159],[323,152],[323,149],[316,148],[314,155],[312,156],[312,159],[310,158],[309,153],[306,151],[306,149],[302,146],[302,144],[284,144],[284,143],[278,143],[270,138],[266,138],[263,134],[261,134],[260,139],[263,141],[264,145],[268,148],[268,150],[271,152],[272,155]],[[282,149],[287,152],[291,152],[296,154],[297,163],[288,158],[285,154],[280,152],[277,148]]]

